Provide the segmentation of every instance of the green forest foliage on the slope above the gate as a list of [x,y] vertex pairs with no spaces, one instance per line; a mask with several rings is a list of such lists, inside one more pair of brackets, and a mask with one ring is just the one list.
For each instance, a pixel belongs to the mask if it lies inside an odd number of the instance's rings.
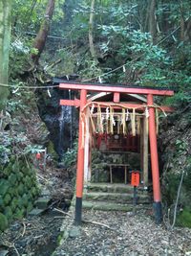
[[[11,76],[15,77],[26,71],[24,59],[31,62],[34,35],[49,1],[13,2],[11,59],[18,64],[11,61]],[[190,87],[190,1],[96,0],[91,12],[92,2],[55,1],[50,37],[40,59],[45,67],[61,58],[51,76],[77,74],[79,80],[98,81],[109,72],[102,81]]]

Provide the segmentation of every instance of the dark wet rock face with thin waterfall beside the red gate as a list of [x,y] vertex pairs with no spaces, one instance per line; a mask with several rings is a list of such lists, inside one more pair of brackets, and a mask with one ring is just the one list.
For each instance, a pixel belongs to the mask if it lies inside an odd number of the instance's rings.
[[50,89],[37,92],[39,114],[50,131],[50,140],[54,150],[61,158],[64,151],[71,148],[77,128],[77,111],[72,106],[60,106],[61,99],[73,99],[74,93],[69,90]]

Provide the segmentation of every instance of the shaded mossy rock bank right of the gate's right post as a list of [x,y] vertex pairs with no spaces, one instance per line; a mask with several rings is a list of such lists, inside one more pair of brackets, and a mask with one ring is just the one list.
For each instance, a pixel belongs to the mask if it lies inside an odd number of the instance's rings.
[[169,208],[173,206],[183,173],[178,209],[183,210],[179,211],[180,217],[190,215],[187,223],[181,224],[191,226],[191,107],[183,112],[177,110],[162,124],[159,150],[163,198]]

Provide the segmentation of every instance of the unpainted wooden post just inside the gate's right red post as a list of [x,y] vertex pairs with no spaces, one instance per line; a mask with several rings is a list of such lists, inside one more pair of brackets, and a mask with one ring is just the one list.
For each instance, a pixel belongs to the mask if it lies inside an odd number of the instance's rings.
[[143,118],[143,184],[148,187],[148,119]]

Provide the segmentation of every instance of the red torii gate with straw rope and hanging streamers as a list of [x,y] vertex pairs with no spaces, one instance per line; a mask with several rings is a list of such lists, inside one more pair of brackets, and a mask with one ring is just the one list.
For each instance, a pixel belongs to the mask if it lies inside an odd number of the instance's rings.
[[[161,196],[159,185],[159,157],[157,146],[158,113],[172,112],[165,105],[155,105],[154,96],[172,96],[174,91],[163,88],[145,88],[126,85],[60,83],[60,89],[77,90],[80,99],[60,100],[60,105],[79,107],[79,133],[76,171],[75,223],[82,218],[82,197],[84,182],[90,180],[91,137],[95,134],[119,134],[125,137],[130,132],[135,137],[142,130],[143,182],[148,182],[148,145],[149,137],[151,169],[153,182],[154,212],[156,222],[162,220]],[[88,97],[89,93],[110,94],[110,101],[101,101],[101,97]],[[112,95],[112,101],[111,101]],[[124,97],[125,95],[125,97]],[[99,95],[100,96],[100,95]],[[128,100],[127,97],[132,99]],[[135,102],[135,97],[138,101]],[[122,98],[124,98],[122,100]],[[144,143],[145,142],[145,143]]]

